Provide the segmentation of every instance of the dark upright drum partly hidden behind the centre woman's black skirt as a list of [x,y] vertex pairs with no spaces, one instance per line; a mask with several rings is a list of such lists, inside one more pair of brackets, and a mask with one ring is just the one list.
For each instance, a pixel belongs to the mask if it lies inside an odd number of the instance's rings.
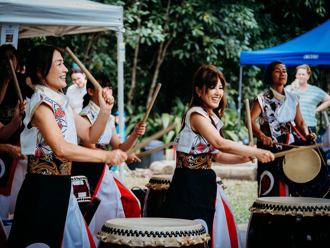
[[148,190],[144,202],[143,217],[160,217],[160,210],[164,204],[172,177],[173,175],[156,175],[150,178],[146,185]]

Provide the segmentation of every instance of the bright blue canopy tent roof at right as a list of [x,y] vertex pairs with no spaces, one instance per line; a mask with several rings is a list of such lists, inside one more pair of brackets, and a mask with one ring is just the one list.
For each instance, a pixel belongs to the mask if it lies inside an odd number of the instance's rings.
[[281,45],[256,51],[242,51],[241,64],[267,65],[281,60],[286,65],[330,64],[330,19]]

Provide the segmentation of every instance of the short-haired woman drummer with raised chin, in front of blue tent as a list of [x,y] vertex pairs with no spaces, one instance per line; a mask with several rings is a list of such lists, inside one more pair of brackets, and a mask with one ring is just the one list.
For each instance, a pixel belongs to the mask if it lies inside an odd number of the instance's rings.
[[[251,108],[252,132],[257,139],[257,147],[278,152],[285,149],[273,142],[290,144],[299,140],[316,140],[309,134],[301,116],[297,95],[284,92],[287,73],[281,61],[271,62],[265,69],[263,81],[270,90],[262,93],[253,101]],[[254,123],[258,118],[260,129]],[[294,121],[294,127],[291,122]],[[247,125],[247,123],[246,123]],[[295,131],[295,132],[294,132]],[[281,182],[277,174],[278,159],[264,163],[258,160],[258,196],[289,196],[289,188]]]

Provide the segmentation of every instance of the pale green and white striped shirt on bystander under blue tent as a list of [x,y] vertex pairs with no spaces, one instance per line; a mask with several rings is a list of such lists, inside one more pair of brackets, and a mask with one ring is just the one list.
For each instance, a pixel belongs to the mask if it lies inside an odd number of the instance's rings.
[[[291,88],[288,85],[284,90]],[[320,103],[326,96],[326,92],[314,85],[310,85],[304,92],[299,92],[294,89],[291,91],[293,94],[297,94],[299,99],[300,112],[308,127],[315,127],[317,125],[317,119],[315,118],[315,111],[318,103]]]

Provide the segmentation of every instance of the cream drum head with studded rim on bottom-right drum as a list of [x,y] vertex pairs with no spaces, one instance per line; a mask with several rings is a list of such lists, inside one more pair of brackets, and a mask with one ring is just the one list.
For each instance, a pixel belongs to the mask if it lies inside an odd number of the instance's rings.
[[252,213],[291,216],[329,216],[330,199],[312,197],[259,197]]

